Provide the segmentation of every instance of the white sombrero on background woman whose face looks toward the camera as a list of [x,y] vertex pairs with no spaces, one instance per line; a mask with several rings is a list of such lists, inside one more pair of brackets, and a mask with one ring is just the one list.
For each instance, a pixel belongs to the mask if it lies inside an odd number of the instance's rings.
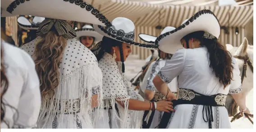
[[103,35],[96,32],[91,25],[85,25],[81,29],[76,30],[77,37],[75,39],[80,41],[81,36],[91,36],[95,38],[95,42],[102,40]]

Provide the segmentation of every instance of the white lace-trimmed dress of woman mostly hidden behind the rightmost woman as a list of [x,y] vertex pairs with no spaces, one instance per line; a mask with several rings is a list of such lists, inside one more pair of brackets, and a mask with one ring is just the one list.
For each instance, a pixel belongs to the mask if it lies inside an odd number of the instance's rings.
[[[158,90],[155,88],[155,85],[153,84],[153,79],[155,75],[161,70],[162,67],[165,66],[166,59],[159,59],[155,62],[152,62],[149,66],[145,78],[143,79],[142,85],[143,87],[146,87],[146,89],[151,90],[155,92],[155,97],[162,98],[163,95],[158,92]],[[145,86],[146,85],[146,86]],[[178,89],[178,79],[175,77],[169,84],[168,88],[176,95],[177,89]],[[155,128],[161,120],[163,112],[160,112],[158,110],[155,110],[155,114],[151,123],[150,128]],[[146,119],[145,119],[146,120]]]

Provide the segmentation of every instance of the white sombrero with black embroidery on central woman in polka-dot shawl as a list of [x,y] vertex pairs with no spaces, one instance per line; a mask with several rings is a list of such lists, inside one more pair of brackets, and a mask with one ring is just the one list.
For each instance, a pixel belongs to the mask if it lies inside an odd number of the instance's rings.
[[112,26],[104,27],[100,25],[93,25],[95,31],[108,38],[118,40],[127,44],[134,44],[144,48],[157,48],[155,44],[141,44],[134,42],[135,26],[134,23],[128,18],[115,18],[112,21]]

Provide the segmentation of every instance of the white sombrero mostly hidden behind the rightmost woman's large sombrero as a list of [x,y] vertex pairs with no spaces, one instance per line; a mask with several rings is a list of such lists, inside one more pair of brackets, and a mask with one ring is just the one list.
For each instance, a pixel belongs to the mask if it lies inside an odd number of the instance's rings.
[[[161,32],[161,35],[168,32],[168,31],[173,31],[175,27],[172,26],[166,26],[164,30]],[[140,39],[147,43],[155,44],[155,40],[157,36],[152,36],[152,35],[147,35],[147,34],[139,34]]]

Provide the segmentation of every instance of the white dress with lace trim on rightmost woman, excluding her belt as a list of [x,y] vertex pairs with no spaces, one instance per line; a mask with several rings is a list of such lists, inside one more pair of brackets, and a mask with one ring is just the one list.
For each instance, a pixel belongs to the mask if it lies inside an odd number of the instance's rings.
[[[206,96],[218,93],[225,95],[238,93],[242,90],[240,71],[236,61],[232,60],[234,63],[233,80],[225,89],[209,67],[210,61],[205,47],[179,49],[171,60],[166,61],[166,65],[158,75],[165,83],[169,83],[178,76],[179,88],[192,89]],[[187,92],[179,91],[178,97],[189,96]],[[220,101],[224,103],[225,98]],[[175,106],[174,109],[176,111],[171,114],[167,128],[208,128],[208,122],[203,119],[202,105],[182,104]],[[230,128],[228,111],[225,107],[212,107],[212,112],[212,128]]]

